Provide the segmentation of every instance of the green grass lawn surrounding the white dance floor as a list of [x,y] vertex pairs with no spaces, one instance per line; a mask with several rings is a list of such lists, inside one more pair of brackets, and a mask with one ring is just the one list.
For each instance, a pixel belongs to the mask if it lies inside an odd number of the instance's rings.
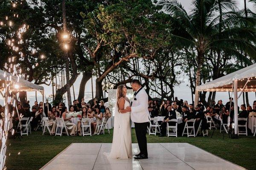
[[[206,137],[158,137],[147,135],[148,143],[187,142],[207,150],[221,158],[245,167],[256,170],[256,137],[240,136],[239,139],[229,139],[225,134],[215,131],[214,136]],[[7,170],[38,170],[54,156],[64,150],[71,143],[111,143],[111,134],[96,136],[42,136],[41,131],[32,132],[32,135],[23,136],[23,139],[8,139],[6,151]],[[132,142],[137,143],[135,131],[132,129]],[[9,144],[11,144],[9,146]],[[18,153],[20,154],[18,155]],[[9,153],[11,155],[9,156]]]

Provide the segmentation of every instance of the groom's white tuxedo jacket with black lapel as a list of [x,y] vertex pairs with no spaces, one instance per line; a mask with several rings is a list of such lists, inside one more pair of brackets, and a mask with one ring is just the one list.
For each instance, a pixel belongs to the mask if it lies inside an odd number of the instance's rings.
[[148,94],[145,89],[142,88],[135,98],[137,100],[133,100],[131,106],[131,121],[135,123],[149,122]]

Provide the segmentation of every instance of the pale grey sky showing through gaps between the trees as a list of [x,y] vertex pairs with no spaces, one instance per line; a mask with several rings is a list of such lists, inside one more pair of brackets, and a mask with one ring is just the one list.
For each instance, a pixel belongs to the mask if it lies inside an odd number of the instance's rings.
[[[191,2],[192,2],[192,0],[180,0],[180,3],[184,6],[186,11],[190,11]],[[244,0],[237,0],[237,3],[238,3],[239,8],[244,8]],[[253,11],[253,4],[252,3],[247,3],[247,7],[250,8]],[[80,82],[81,82],[81,78],[82,78],[82,75],[80,75],[76,79],[76,82],[74,83],[76,98],[78,97],[79,85],[80,85]],[[189,103],[191,103],[192,102],[192,97],[191,97],[190,88],[188,86],[189,85],[189,78],[184,75],[184,76],[179,77],[179,79],[183,80],[183,83],[181,83],[177,87],[174,87],[175,96],[177,96],[178,99],[187,100]],[[95,80],[96,80],[96,78],[93,77],[93,91],[95,91]],[[52,86],[47,86],[47,85],[42,85],[42,86],[45,89],[46,97],[48,97],[49,94],[52,94]],[[70,90],[71,90],[71,99],[73,100],[74,99],[74,97],[73,97],[73,88],[71,88]],[[95,94],[95,92],[94,92],[94,94]],[[27,92],[27,96],[28,96],[28,99],[31,101],[30,103],[31,104],[34,103],[34,101],[35,101],[35,92]],[[251,93],[248,94],[248,96],[249,96],[250,105],[252,105],[253,101],[256,100],[255,93],[251,92]],[[85,86],[84,99],[87,102],[91,98],[92,98],[92,94],[91,94],[91,79],[90,79],[87,82],[86,86]],[[218,92],[218,93],[216,93],[215,101],[217,102],[219,99],[222,99],[223,103],[225,104],[226,102],[228,102],[228,98],[229,98],[228,92]],[[41,94],[38,94],[38,101],[41,101],[41,99],[42,99]],[[3,100],[1,100],[1,99],[0,99],[0,104],[3,104]],[[238,100],[238,104],[239,105],[243,104],[242,97],[240,97],[240,99]]]

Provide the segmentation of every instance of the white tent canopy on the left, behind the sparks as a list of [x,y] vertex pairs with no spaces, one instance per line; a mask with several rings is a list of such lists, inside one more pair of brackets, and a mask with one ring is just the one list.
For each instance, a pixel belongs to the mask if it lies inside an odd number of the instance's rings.
[[[11,88],[12,91],[17,91],[17,92],[18,91],[41,91],[41,92],[44,91],[44,87],[42,87],[40,85],[35,85],[32,82],[29,82],[29,81],[21,79],[19,77],[13,76],[12,74],[9,74],[3,70],[0,70],[0,80],[1,81],[7,80],[7,78],[10,76],[12,76],[12,80],[15,82],[15,84],[18,85],[18,86],[16,86],[16,88],[12,87]],[[2,83],[4,83],[4,82],[1,82],[0,90],[2,90],[4,88]]]

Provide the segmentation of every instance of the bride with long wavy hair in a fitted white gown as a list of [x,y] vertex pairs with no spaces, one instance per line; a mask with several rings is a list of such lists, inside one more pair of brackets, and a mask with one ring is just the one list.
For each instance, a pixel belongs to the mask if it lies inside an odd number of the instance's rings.
[[117,87],[113,142],[108,156],[111,159],[132,158],[130,112],[125,110],[130,106],[130,100],[126,97],[126,93],[125,85]]

